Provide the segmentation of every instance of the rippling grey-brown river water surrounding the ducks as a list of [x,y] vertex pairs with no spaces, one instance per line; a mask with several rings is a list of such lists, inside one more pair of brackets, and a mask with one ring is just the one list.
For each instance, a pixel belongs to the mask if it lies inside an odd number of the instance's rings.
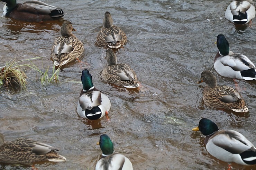
[[[18,2],[25,2],[19,0]],[[27,90],[1,88],[0,132],[6,140],[32,138],[48,143],[67,158],[64,163],[35,164],[42,170],[95,169],[101,150],[96,145],[106,133],[115,150],[128,157],[135,170],[227,169],[206,151],[204,136],[192,132],[201,118],[216,122],[220,129],[234,129],[256,144],[256,82],[237,80],[248,113],[228,112],[204,106],[205,83],[196,84],[203,70],[214,70],[218,51],[214,42],[224,34],[230,50],[243,53],[256,63],[256,20],[252,27],[235,27],[225,19],[229,1],[87,1],[44,0],[62,8],[60,21],[27,23],[1,17],[1,61],[16,58],[32,60],[41,70],[53,68],[50,52],[60,36],[63,21],[71,21],[74,34],[84,42],[85,56],[63,67],[59,82],[42,86],[39,74],[26,68]],[[0,3],[2,9],[4,3]],[[114,87],[99,79],[106,64],[106,49],[94,46],[102,27],[104,12],[128,36],[128,43],[117,51],[118,62],[125,62],[137,73],[139,92]],[[26,63],[26,62],[24,62]],[[89,69],[94,86],[109,96],[109,118],[88,121],[76,113],[82,89],[81,71]],[[232,79],[216,74],[218,84],[235,87]],[[256,169],[232,164],[234,169]],[[31,167],[4,166],[5,169]]]

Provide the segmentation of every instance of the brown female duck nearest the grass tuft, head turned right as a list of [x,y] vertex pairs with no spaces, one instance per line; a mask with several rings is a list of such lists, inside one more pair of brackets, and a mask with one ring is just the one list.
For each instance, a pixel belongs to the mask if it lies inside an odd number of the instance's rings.
[[69,21],[63,22],[61,26],[61,37],[56,38],[52,47],[51,56],[55,66],[62,66],[68,62],[78,59],[84,52],[83,43],[74,36],[76,31]]

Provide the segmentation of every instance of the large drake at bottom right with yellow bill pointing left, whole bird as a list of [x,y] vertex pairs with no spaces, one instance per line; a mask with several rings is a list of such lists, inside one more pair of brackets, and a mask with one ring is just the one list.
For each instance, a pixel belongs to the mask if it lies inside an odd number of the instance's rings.
[[206,150],[215,158],[242,165],[256,164],[256,148],[241,133],[235,130],[219,130],[211,120],[203,118],[199,126],[192,129],[207,136],[204,140]]

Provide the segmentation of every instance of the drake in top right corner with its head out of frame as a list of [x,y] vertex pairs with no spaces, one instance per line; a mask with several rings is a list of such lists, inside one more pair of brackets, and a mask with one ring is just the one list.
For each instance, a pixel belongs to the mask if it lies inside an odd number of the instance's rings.
[[228,6],[225,17],[236,24],[246,24],[255,17],[255,6],[252,0],[233,1]]

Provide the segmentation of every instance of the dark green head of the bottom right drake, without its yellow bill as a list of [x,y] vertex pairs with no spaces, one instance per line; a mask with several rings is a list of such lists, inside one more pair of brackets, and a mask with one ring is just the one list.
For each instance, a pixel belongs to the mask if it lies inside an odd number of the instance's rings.
[[218,126],[213,121],[206,118],[203,118],[199,121],[198,128],[204,136],[208,136],[209,134],[219,130]]

